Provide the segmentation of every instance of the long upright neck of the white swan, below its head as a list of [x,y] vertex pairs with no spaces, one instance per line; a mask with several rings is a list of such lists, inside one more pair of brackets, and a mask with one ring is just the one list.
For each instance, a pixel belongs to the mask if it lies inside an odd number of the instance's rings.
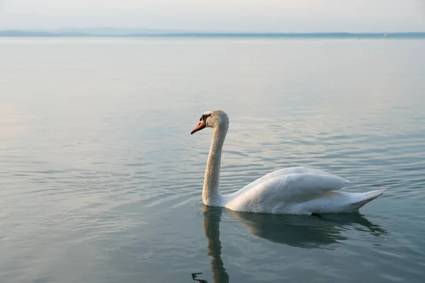
[[220,180],[221,153],[227,134],[227,127],[227,125],[220,125],[214,129],[212,134],[202,191],[202,200],[205,205],[218,206],[220,202],[221,195],[218,190],[218,182]]

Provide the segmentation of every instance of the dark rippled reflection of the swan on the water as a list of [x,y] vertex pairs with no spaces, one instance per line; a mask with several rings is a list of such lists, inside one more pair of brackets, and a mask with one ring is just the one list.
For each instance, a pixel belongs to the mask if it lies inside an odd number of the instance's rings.
[[362,214],[327,214],[326,218],[301,215],[257,214],[234,212],[221,207],[203,205],[203,226],[208,240],[208,255],[211,257],[213,280],[229,282],[221,258],[220,221],[222,212],[242,221],[249,233],[274,243],[300,248],[327,248],[332,243],[347,238],[341,231],[357,229],[367,231],[373,236],[387,233],[385,229],[371,223]]

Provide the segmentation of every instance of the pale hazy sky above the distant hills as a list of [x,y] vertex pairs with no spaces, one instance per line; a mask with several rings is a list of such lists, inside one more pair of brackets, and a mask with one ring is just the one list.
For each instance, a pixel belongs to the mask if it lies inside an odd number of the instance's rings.
[[0,30],[425,31],[425,0],[0,0]]

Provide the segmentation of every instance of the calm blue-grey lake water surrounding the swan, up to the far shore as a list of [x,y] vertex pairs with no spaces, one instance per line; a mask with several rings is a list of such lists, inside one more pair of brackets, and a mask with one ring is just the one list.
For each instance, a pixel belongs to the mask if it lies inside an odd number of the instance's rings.
[[[0,38],[0,282],[423,282],[425,40]],[[360,212],[203,207],[310,166]]]

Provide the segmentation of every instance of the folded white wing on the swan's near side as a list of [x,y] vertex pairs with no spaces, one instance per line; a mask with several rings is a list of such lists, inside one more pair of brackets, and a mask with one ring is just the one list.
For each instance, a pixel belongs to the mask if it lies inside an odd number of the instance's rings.
[[257,185],[234,193],[234,200],[248,205],[305,202],[331,190],[339,190],[348,181],[337,175],[289,173],[269,178]]

